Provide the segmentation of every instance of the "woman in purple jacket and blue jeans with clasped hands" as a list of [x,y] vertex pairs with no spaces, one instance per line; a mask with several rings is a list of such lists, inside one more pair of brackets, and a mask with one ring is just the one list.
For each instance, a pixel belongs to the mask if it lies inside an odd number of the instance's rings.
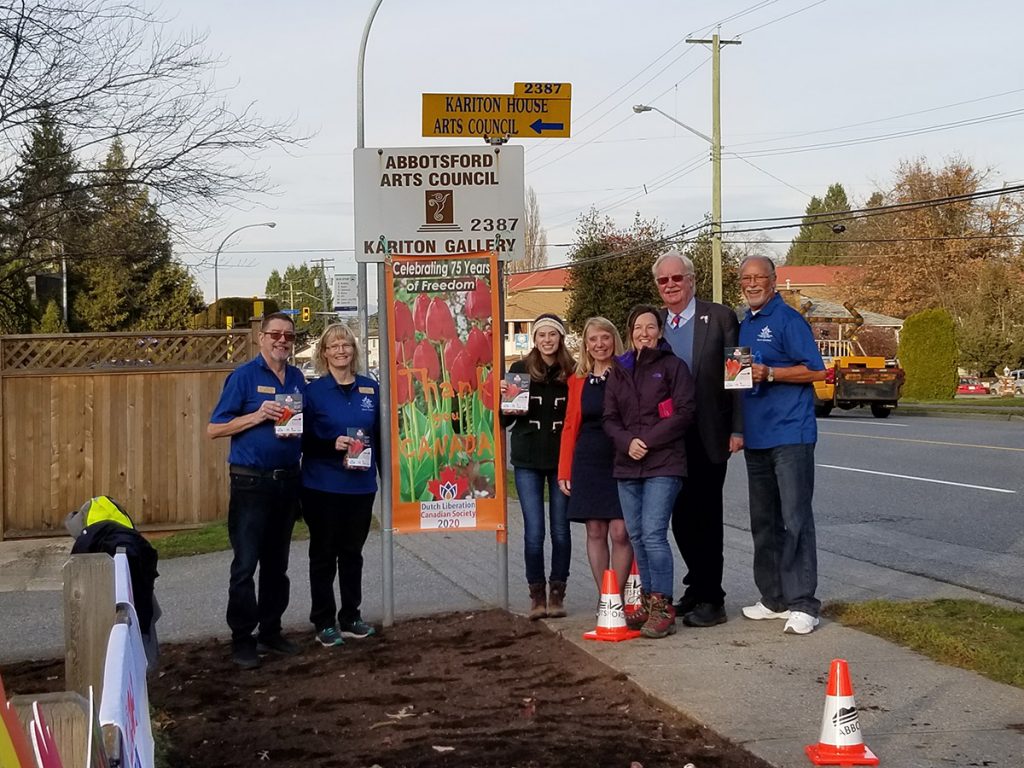
[[630,311],[630,351],[615,359],[604,392],[604,431],[615,443],[612,474],[643,586],[629,621],[645,637],[676,631],[669,521],[686,476],[683,434],[693,420],[693,379],[662,339],[662,315]]

